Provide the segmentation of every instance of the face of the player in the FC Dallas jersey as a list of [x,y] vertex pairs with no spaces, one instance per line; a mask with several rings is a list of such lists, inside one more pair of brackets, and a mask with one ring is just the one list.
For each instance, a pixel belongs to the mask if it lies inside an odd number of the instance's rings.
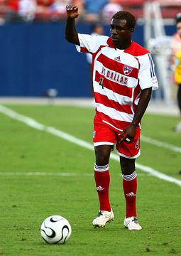
[[133,28],[128,28],[126,20],[112,18],[110,24],[111,38],[114,46],[123,49],[126,44],[131,41]]

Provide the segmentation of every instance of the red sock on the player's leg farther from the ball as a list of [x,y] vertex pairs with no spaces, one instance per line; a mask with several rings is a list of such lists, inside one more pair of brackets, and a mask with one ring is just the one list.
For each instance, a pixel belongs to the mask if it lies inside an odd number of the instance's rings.
[[124,196],[126,199],[126,218],[136,217],[136,190],[137,190],[137,180],[135,178],[128,180],[128,176],[124,176],[123,187],[124,187]]

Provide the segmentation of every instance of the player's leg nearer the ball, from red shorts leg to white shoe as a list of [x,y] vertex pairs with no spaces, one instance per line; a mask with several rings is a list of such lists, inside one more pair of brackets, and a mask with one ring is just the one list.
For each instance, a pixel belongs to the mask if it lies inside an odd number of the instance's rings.
[[98,115],[94,118],[93,142],[96,155],[94,178],[99,197],[99,213],[92,224],[94,227],[100,228],[114,219],[114,213],[109,203],[109,157],[116,143],[116,132],[104,124]]

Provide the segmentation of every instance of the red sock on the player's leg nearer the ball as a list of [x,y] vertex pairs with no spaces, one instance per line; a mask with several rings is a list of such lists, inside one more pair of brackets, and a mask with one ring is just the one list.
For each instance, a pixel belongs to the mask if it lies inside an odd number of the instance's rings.
[[[106,165],[109,168],[109,165]],[[94,178],[97,186],[97,193],[99,196],[100,210],[111,211],[111,206],[109,203],[109,169],[106,168],[106,171],[100,171],[105,169],[105,166],[97,166],[95,164]],[[99,171],[97,171],[99,169]]]

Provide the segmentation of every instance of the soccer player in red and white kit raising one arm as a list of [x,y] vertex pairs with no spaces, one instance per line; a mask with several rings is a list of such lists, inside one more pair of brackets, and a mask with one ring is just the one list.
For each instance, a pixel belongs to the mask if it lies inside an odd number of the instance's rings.
[[154,63],[148,50],[132,41],[136,18],[128,11],[119,11],[111,19],[108,36],[79,34],[75,18],[77,6],[69,5],[65,38],[77,50],[92,54],[94,98],[94,178],[99,196],[99,213],[92,222],[104,227],[114,220],[109,202],[109,157],[116,144],[126,199],[124,226],[141,230],[136,215],[136,166],[140,156],[141,118],[148,106],[151,91],[158,88]]

